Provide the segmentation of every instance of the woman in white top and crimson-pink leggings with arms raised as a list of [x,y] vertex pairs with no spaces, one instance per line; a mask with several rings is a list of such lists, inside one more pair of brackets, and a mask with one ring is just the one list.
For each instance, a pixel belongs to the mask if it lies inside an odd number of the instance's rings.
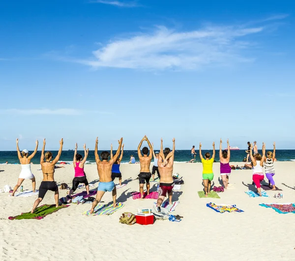
[[252,154],[252,144],[251,144],[251,150],[250,150],[250,157],[253,163],[253,182],[255,183],[257,187],[257,192],[259,196],[261,197],[261,185],[260,182],[264,179],[263,174],[263,164],[266,157],[266,145],[263,143],[262,145],[262,156],[259,153],[256,153],[254,156]]

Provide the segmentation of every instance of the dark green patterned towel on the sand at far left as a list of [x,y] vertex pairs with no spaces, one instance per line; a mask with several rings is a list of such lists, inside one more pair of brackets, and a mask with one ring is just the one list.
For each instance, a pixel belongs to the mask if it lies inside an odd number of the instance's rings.
[[65,208],[68,207],[69,205],[61,205],[59,207],[56,207],[55,204],[53,205],[48,205],[48,204],[44,204],[41,206],[38,206],[35,209],[35,212],[33,214],[31,214],[31,212],[26,212],[26,213],[22,213],[18,216],[15,217],[9,217],[8,219],[10,220],[14,220],[14,219],[42,219],[44,217],[46,217],[49,214],[52,214],[54,212],[59,211],[59,209],[61,208]]

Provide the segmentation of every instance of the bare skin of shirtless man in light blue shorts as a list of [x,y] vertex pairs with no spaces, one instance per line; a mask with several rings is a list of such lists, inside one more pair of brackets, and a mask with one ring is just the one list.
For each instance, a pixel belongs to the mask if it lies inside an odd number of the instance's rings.
[[[120,154],[121,146],[122,146],[123,138],[121,138],[118,141],[118,150],[114,157],[108,161],[107,159],[105,160],[100,160],[98,153],[97,153],[97,145],[98,145],[98,138],[96,138],[95,141],[95,149],[94,149],[94,155],[95,155],[95,161],[96,161],[96,166],[97,166],[97,172],[99,176],[99,182],[111,182],[112,181],[112,166],[113,164],[117,161],[118,156]],[[102,199],[103,195],[105,194],[105,191],[97,191],[96,194],[96,199],[93,201],[91,209],[90,209],[90,214],[94,212],[94,208],[97,206],[97,204],[100,202]],[[116,186],[112,191],[112,196],[113,196],[113,206],[115,207],[117,205],[116,200],[117,200],[117,189]]]

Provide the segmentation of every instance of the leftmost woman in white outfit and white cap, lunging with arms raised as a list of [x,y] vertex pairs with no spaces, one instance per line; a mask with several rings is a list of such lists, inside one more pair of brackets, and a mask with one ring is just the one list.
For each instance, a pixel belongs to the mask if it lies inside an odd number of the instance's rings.
[[[38,141],[36,141],[35,150],[30,156],[29,156],[29,151],[27,149],[24,149],[21,154],[20,148],[18,146],[18,139],[16,139],[16,150],[17,150],[17,155],[22,166],[22,171],[21,171],[21,174],[19,175],[17,184],[15,185],[11,196],[14,196],[14,193],[22,185],[25,179],[30,179],[32,181],[33,192],[35,192],[36,180],[30,170],[30,160],[35,156],[37,149],[38,149]],[[8,163],[8,161],[6,162]]]

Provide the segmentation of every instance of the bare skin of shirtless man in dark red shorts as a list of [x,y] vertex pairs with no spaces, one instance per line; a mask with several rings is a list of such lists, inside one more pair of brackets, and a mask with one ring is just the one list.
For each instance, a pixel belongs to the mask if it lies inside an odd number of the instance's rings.
[[[173,164],[175,152],[175,138],[173,138],[173,149],[167,155],[166,159],[163,152],[163,140],[161,139],[161,150],[158,156],[158,169],[160,172],[160,183],[173,183]],[[172,204],[173,191],[168,194],[169,204]],[[165,197],[159,196],[157,206],[161,206]]]

